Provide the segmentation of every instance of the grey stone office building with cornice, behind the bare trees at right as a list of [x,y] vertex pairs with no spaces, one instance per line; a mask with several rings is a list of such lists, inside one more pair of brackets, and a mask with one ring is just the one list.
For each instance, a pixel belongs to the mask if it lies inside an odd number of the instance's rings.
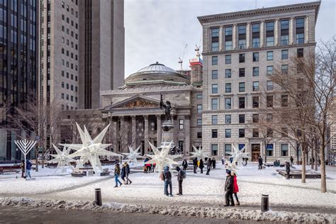
[[315,49],[319,7],[320,1],[198,17],[203,27],[202,145],[209,154],[228,156],[233,146],[247,146],[252,161],[266,154],[271,161],[296,157],[286,140],[265,147],[248,121],[266,104],[261,94],[266,91],[273,101],[267,74],[288,70],[291,57]]

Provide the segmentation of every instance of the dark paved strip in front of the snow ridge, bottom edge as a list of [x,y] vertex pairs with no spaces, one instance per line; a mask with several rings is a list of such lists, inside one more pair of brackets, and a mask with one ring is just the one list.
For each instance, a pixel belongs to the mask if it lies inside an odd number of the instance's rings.
[[[32,208],[13,208],[0,206],[0,223],[223,223],[223,224],[268,224],[250,220],[220,220],[210,218],[191,218],[170,215],[140,215],[133,213],[96,212],[77,210],[49,210]],[[281,223],[281,222],[276,222]],[[274,222],[272,223],[274,224]]]

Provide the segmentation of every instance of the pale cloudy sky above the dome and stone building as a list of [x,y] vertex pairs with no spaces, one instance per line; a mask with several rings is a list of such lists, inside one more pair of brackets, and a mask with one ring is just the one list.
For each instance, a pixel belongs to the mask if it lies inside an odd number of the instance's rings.
[[[257,8],[298,4],[311,0],[257,0]],[[316,24],[316,40],[336,34],[336,1],[322,0]],[[159,62],[179,69],[195,57],[202,43],[197,16],[256,9],[255,0],[125,0],[125,77]]]

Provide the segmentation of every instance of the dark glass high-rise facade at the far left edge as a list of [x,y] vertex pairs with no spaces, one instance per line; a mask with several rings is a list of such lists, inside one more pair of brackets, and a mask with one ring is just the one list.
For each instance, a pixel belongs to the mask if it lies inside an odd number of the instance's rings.
[[38,1],[0,1],[0,160],[20,159],[6,125],[13,107],[37,96],[37,45]]

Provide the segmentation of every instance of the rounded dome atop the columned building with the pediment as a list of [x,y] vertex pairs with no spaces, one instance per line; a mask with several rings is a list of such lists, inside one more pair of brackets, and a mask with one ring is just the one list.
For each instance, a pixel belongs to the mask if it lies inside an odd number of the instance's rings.
[[125,79],[126,86],[150,84],[188,85],[189,80],[174,69],[159,62],[143,67]]

